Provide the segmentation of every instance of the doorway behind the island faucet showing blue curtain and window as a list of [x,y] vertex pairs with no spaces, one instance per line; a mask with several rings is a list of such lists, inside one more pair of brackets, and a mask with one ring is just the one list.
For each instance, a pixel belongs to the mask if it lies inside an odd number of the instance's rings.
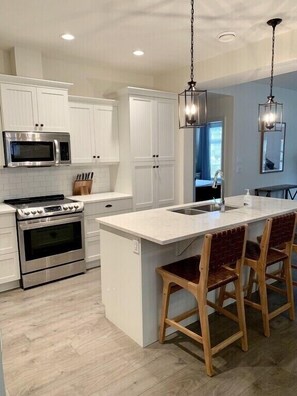
[[221,188],[212,188],[215,172],[223,167],[223,121],[211,121],[194,133],[195,201],[220,198]]

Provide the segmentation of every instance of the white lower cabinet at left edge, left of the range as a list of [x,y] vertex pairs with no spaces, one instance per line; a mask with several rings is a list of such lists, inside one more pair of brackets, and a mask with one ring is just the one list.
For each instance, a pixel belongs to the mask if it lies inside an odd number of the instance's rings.
[[0,285],[20,279],[15,215],[0,215]]

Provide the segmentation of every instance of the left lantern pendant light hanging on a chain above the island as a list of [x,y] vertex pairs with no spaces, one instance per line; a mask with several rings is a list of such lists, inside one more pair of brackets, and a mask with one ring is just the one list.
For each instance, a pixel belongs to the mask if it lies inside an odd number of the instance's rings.
[[196,88],[194,81],[194,0],[191,0],[191,75],[188,88],[178,95],[179,128],[196,128],[206,124],[207,91]]

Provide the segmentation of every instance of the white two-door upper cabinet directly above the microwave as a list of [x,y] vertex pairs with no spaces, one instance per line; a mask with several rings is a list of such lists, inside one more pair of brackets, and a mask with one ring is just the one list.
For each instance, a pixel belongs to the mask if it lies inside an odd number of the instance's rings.
[[3,130],[69,131],[68,85],[71,84],[15,76],[9,80],[13,83],[0,83]]

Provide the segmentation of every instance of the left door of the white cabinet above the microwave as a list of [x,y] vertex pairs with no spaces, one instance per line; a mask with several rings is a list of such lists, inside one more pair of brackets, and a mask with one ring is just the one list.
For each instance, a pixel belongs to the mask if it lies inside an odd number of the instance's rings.
[[36,88],[1,84],[1,112],[4,131],[38,130]]

